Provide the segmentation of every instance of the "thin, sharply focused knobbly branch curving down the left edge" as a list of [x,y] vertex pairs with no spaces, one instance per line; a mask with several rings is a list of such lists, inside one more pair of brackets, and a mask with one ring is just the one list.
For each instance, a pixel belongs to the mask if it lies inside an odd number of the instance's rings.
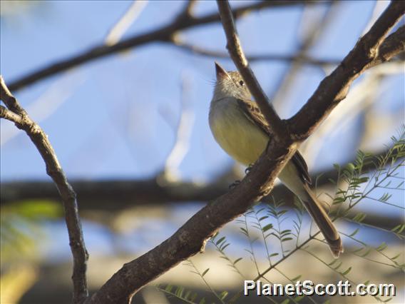
[[[53,183],[58,188],[59,195],[63,201],[69,245],[73,254],[73,303],[83,303],[88,296],[86,281],[88,253],[84,245],[81,223],[78,217],[76,193],[63,173],[55,151],[53,151],[51,143],[48,141],[48,136],[46,136],[46,133],[43,132],[38,124],[29,118],[24,108],[19,105],[19,102],[11,94],[6,83],[4,83],[2,76],[0,76],[0,98],[9,108],[8,111],[1,106],[1,118],[13,121],[17,128],[26,132],[41,154],[43,161],[45,161],[46,173],[48,173],[48,176],[51,176]],[[19,117],[17,118],[16,116]]]

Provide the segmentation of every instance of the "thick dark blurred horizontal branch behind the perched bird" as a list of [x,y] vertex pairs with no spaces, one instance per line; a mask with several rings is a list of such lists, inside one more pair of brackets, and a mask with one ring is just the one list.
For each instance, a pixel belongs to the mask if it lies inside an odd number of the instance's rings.
[[[389,147],[391,150],[392,147]],[[376,158],[385,156],[386,151],[374,153]],[[354,159],[347,161],[353,163]],[[342,165],[344,166],[344,165]],[[374,163],[365,163],[363,171],[374,170]],[[224,176],[224,177],[222,177]],[[170,202],[188,203],[212,201],[229,190],[229,185],[239,176],[225,172],[208,184],[187,181],[158,182],[158,176],[145,180],[106,180],[82,181],[73,180],[71,185],[76,190],[81,201],[81,211],[122,211],[133,206],[165,205]],[[318,171],[311,174],[312,181],[317,181],[317,187],[322,188],[330,184],[330,180],[337,180],[337,171]],[[1,205],[24,200],[57,200],[58,192],[53,183],[47,181],[13,181],[0,185]],[[292,193],[282,184],[275,186],[272,196],[293,206]],[[264,198],[267,201],[267,198]],[[271,201],[268,198],[268,201]]]

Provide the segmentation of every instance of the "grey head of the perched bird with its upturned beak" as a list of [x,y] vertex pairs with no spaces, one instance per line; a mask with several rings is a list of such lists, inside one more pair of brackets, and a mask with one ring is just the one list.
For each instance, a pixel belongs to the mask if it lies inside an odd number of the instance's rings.
[[226,97],[250,99],[250,91],[238,71],[225,71],[217,62],[215,62],[215,70],[217,81],[212,100]]

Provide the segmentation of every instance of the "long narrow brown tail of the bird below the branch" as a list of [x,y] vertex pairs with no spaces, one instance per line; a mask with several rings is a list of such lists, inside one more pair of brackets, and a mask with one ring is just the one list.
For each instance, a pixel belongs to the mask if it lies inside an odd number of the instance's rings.
[[302,203],[314,219],[315,223],[317,223],[317,226],[324,235],[325,240],[327,240],[330,250],[332,251],[332,255],[335,258],[339,258],[340,253],[343,253],[343,245],[339,233],[337,232],[327,213],[324,211],[324,208],[322,208],[321,203],[319,203],[315,197],[311,188],[304,184],[304,189],[307,191],[307,197],[305,199],[302,198]]

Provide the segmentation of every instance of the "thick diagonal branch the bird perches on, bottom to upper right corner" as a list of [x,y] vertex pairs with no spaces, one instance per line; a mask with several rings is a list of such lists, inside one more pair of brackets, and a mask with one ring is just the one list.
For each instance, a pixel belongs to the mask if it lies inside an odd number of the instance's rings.
[[[354,78],[362,74],[369,67],[370,62],[376,58],[381,41],[404,14],[404,9],[405,2],[391,2],[371,30],[363,36],[347,56],[349,59],[345,59],[331,76],[322,81],[323,89],[317,90],[312,97],[315,100],[319,99],[321,104],[309,100],[308,105],[298,113],[299,116],[306,114],[307,120],[300,121],[300,128],[290,125],[291,130],[295,131],[293,134],[297,141],[301,140],[302,134],[309,136],[319,125],[319,120],[332,111],[333,107],[329,109],[330,103],[341,101],[344,98],[345,93],[342,93],[342,89],[347,91]],[[232,19],[225,20],[232,21]],[[224,19],[222,22],[225,23]],[[233,35],[236,33],[234,32]],[[237,50],[233,51],[237,53]],[[235,62],[235,64],[237,63]],[[349,64],[353,66],[349,66]],[[247,63],[244,67],[246,66]],[[340,89],[337,89],[337,86]],[[322,101],[327,106],[322,106]],[[295,146],[296,143],[291,141],[275,143],[270,139],[266,151],[237,187],[198,211],[163,243],[123,265],[123,268],[118,270],[86,303],[128,303],[133,294],[143,285],[165,273],[185,258],[203,250],[207,238],[210,238],[225,223],[244,213],[247,208],[252,206],[252,203],[258,201],[266,191],[272,189],[277,174],[296,150]]]

